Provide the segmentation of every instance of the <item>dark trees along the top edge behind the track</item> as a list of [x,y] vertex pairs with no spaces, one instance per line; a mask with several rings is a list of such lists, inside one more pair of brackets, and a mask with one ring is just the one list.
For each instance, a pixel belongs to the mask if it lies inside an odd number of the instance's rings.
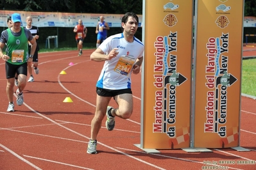
[[[44,11],[115,14],[134,12],[137,14],[142,14],[142,1],[143,0],[2,0],[0,2],[0,6],[3,6],[3,10],[15,9],[35,12]],[[244,0],[244,16],[256,17],[255,0]]]

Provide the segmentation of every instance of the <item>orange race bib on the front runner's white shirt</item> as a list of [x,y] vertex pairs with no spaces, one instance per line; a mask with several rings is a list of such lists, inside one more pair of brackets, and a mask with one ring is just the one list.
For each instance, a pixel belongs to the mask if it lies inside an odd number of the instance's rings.
[[115,72],[122,75],[128,75],[132,71],[132,66],[135,63],[135,59],[132,56],[121,56],[117,65],[115,65]]

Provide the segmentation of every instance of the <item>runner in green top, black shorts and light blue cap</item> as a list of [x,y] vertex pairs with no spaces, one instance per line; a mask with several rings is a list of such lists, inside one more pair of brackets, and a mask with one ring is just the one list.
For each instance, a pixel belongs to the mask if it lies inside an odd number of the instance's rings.
[[[31,43],[30,55],[28,55],[28,41]],[[19,42],[19,43],[16,43]],[[3,54],[4,45],[8,51]],[[9,100],[8,112],[14,111],[13,104],[13,86],[15,73],[18,74],[19,87],[17,88],[17,105],[23,104],[23,89],[26,86],[27,66],[33,61],[33,54],[37,48],[37,42],[30,31],[21,27],[21,15],[12,14],[12,27],[4,30],[0,38],[0,58],[5,61],[6,69],[6,94]]]

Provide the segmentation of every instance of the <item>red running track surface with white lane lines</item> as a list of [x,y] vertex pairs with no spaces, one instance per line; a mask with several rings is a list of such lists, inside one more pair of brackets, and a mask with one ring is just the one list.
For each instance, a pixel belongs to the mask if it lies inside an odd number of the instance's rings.
[[[248,49],[246,49],[248,50]],[[159,150],[149,154],[140,143],[141,75],[133,75],[134,112],[116,119],[109,132],[103,120],[98,154],[86,153],[94,116],[95,84],[103,62],[90,61],[92,50],[39,54],[40,73],[24,90],[24,104],[6,112],[4,62],[0,61],[0,169],[201,169],[203,161],[256,161],[256,100],[242,97],[240,146],[251,151],[213,149],[208,153]],[[256,56],[249,48],[244,56]],[[73,62],[73,66],[69,63]],[[65,70],[67,74],[60,72]],[[17,87],[15,87],[17,89]],[[73,102],[63,100],[70,97]],[[15,98],[14,98],[15,99]],[[111,105],[115,105],[112,100]],[[256,169],[256,164],[223,164],[228,169]],[[221,167],[219,167],[220,169]],[[223,167],[224,168],[224,167]]]

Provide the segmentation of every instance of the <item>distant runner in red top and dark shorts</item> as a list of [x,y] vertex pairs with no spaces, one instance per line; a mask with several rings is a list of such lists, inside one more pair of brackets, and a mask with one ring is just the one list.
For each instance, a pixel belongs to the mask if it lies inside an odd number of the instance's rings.
[[76,33],[76,43],[78,44],[78,56],[83,54],[83,40],[87,34],[87,27],[83,26],[81,19],[78,20],[78,25],[74,27],[74,33]]

